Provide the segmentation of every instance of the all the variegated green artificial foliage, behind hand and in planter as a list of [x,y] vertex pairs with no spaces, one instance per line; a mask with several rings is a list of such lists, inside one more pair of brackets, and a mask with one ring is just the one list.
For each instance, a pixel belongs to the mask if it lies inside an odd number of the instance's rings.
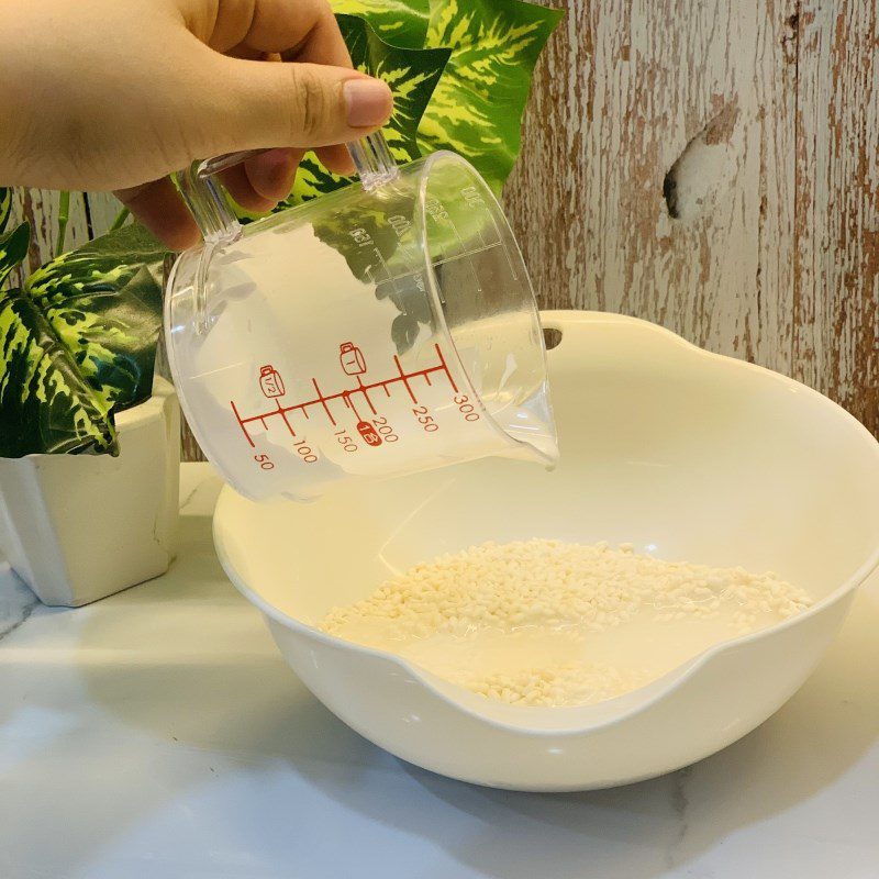
[[[534,63],[560,13],[521,0],[332,5],[355,66],[391,87],[385,134],[397,162],[453,149],[500,192],[519,154]],[[279,210],[348,182],[309,154]],[[26,223],[7,231],[10,207],[0,189],[0,285],[30,242]],[[114,413],[151,393],[164,257],[152,235],[129,225],[48,262],[22,288],[0,290],[0,457],[118,454]],[[414,320],[401,314],[403,340]]]

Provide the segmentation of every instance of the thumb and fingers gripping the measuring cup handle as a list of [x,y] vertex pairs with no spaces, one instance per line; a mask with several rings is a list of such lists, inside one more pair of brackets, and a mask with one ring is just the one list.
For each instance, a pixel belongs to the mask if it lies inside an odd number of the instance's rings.
[[[179,152],[190,160],[276,147],[222,175],[235,201],[260,213],[290,192],[305,149],[315,148],[330,170],[353,174],[341,144],[383,125],[392,97],[387,85],[351,68],[326,1],[220,0],[210,20],[196,9],[185,16],[187,36],[198,37],[187,52],[198,76]],[[281,63],[266,63],[269,55]],[[197,243],[198,227],[169,180],[118,194],[168,246]]]

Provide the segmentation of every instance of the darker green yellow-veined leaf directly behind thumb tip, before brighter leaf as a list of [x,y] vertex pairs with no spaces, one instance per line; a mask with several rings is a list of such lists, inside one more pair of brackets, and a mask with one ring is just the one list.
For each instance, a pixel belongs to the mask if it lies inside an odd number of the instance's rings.
[[[393,92],[393,115],[382,129],[391,154],[400,164],[419,158],[419,122],[441,79],[450,51],[391,46],[364,19],[352,15],[336,18],[355,67],[383,79]],[[290,199],[279,210],[332,192],[349,182],[349,178],[327,171],[314,154],[309,153],[300,165]]]

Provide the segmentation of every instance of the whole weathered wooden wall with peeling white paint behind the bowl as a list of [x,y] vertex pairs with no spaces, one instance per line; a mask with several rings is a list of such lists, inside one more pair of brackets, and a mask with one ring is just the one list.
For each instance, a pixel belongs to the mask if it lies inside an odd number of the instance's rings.
[[[547,2],[505,192],[542,304],[656,321],[879,433],[877,0]],[[19,197],[34,260],[56,204]],[[68,242],[115,212],[75,198]]]

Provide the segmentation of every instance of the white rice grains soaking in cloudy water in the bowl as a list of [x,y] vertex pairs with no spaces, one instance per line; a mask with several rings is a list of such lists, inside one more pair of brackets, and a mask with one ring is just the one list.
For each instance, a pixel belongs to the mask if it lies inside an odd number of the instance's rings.
[[533,539],[416,565],[334,608],[320,627],[488,699],[572,705],[636,689],[810,603],[772,572],[665,561],[631,544]]

